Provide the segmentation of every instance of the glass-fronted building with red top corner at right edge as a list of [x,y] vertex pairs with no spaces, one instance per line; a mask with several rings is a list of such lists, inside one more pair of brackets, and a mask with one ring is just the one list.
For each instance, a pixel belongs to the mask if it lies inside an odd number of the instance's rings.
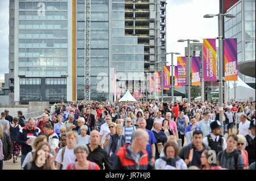
[[238,76],[255,89],[255,0],[228,1],[225,7],[237,15],[224,18],[224,36],[237,39]]

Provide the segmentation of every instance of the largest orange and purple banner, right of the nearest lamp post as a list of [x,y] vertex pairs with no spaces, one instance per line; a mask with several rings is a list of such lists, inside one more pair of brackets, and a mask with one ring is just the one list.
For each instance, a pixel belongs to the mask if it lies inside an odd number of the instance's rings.
[[237,81],[237,39],[224,39],[225,81]]

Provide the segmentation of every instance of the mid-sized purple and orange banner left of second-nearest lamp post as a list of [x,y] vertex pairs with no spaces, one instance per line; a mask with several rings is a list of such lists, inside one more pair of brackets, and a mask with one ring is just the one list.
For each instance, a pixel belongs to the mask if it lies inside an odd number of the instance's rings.
[[177,85],[186,86],[186,57],[177,57]]

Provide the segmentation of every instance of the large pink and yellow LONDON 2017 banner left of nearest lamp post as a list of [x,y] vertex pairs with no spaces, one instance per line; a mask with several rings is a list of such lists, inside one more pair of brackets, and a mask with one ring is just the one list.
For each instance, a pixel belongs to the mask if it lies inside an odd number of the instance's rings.
[[203,39],[204,81],[217,81],[216,39]]

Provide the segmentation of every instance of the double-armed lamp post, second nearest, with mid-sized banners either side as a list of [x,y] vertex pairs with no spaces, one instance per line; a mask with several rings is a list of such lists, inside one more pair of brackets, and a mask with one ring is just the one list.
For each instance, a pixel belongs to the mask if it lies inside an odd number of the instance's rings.
[[191,94],[190,94],[190,89],[191,89],[191,55],[190,55],[190,41],[193,42],[200,42],[199,40],[178,40],[177,42],[184,42],[184,41],[188,41],[188,61],[187,61],[187,87],[188,87],[188,107],[190,107],[190,103],[191,103]]

